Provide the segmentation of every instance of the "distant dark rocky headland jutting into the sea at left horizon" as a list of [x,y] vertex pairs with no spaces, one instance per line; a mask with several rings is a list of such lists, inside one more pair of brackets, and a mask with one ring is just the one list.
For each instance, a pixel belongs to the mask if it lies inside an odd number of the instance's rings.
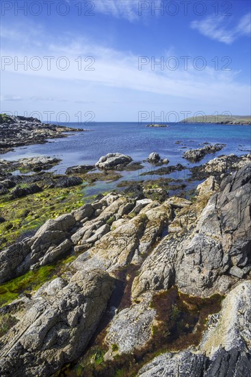
[[64,132],[83,131],[79,128],[41,123],[36,118],[8,117],[0,123],[0,154],[21,145],[46,143],[49,138],[66,137]]

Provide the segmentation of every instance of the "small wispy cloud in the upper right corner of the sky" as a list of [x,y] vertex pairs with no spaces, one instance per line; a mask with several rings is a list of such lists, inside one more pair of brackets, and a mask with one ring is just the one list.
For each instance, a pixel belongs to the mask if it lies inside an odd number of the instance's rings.
[[243,16],[235,27],[226,27],[226,16],[208,16],[207,19],[202,21],[192,21],[191,28],[198,30],[200,34],[207,36],[211,39],[224,42],[230,45],[240,36],[250,35],[251,29],[251,14],[248,13]]

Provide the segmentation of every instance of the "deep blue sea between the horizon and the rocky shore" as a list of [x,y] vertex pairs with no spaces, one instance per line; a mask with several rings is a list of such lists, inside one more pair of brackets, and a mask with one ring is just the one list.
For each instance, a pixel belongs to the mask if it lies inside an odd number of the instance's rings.
[[[146,123],[147,124],[147,123]],[[169,123],[169,127],[146,127],[137,122],[97,122],[94,125],[68,123],[69,127],[80,127],[88,132],[73,132],[67,138],[57,138],[42,145],[18,147],[15,151],[1,155],[7,160],[31,156],[56,156],[62,163],[53,171],[64,173],[65,169],[74,165],[94,164],[101,156],[111,152],[127,154],[135,161],[146,160],[148,155],[156,151],[161,158],[168,158],[169,165],[180,162],[186,167],[200,165],[222,154],[247,154],[251,149],[250,125],[219,125],[198,123]],[[176,144],[176,141],[181,141]],[[224,143],[226,147],[216,154],[207,155],[198,164],[191,164],[182,154],[189,148],[202,147],[203,143]],[[144,169],[153,169],[147,162]],[[143,170],[144,170],[143,169]],[[142,171],[123,172],[127,180],[139,179]],[[150,175],[144,179],[153,178]],[[142,177],[140,178],[142,179]],[[116,182],[118,183],[118,182]],[[101,188],[112,189],[116,184],[100,182]],[[93,192],[90,191],[90,192]]]

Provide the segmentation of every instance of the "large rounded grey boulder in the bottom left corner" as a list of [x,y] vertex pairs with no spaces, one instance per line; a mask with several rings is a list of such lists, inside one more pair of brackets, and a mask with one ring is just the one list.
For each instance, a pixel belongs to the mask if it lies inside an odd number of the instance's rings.
[[1,338],[1,376],[51,376],[75,360],[96,329],[113,285],[104,271],[78,271],[56,295],[51,288],[50,295],[38,297]]

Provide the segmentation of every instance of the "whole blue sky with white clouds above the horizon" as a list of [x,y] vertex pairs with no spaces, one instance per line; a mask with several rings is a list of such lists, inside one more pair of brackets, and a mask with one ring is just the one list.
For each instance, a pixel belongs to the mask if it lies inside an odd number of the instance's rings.
[[1,112],[43,121],[251,114],[250,1],[1,0]]

